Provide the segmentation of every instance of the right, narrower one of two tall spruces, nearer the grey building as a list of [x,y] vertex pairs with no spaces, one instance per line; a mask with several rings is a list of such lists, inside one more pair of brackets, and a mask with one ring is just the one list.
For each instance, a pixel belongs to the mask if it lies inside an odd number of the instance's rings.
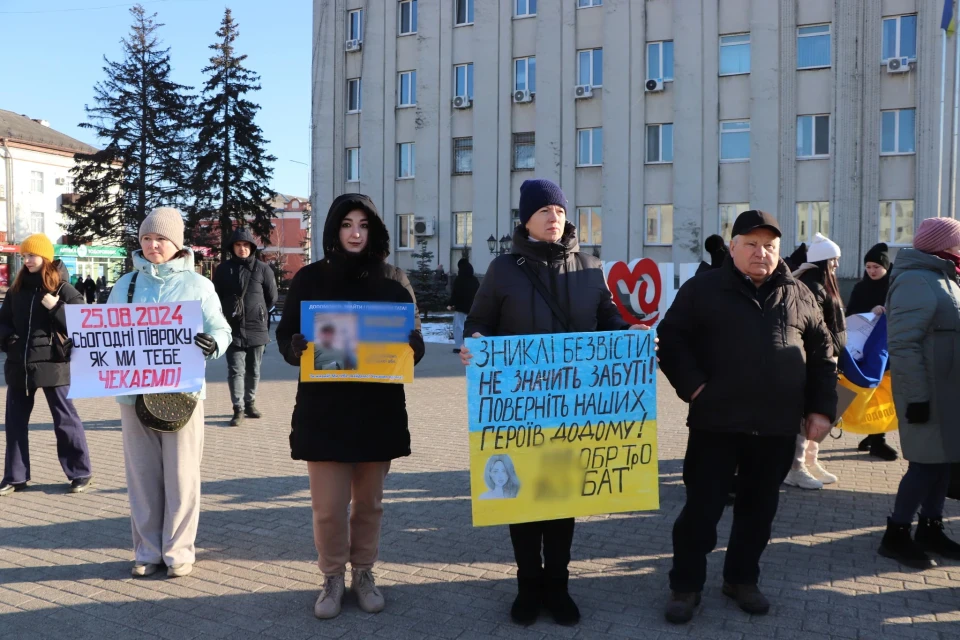
[[[226,9],[217,42],[210,45],[214,55],[203,69],[209,74],[199,108],[199,130],[194,147],[196,167],[193,174],[194,206],[188,226],[199,242],[204,230],[219,222],[216,242],[225,257],[236,226],[249,226],[266,244],[270,240],[274,193],[268,186],[276,158],[264,150],[267,140],[254,122],[260,106],[244,96],[259,91],[260,76],[246,69],[245,55],[237,55],[234,41],[239,35],[230,9]],[[219,247],[217,247],[219,245]]]

